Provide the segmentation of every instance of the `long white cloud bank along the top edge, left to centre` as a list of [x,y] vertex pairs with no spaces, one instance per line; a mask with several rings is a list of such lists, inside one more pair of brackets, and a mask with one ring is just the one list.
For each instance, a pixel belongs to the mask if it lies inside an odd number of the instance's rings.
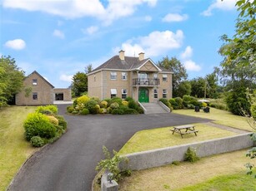
[[158,0],[108,0],[108,4],[104,7],[100,0],[3,0],[3,7],[20,8],[31,12],[47,12],[65,18],[96,17],[105,24],[110,24],[119,17],[132,15],[138,5],[146,3],[149,7],[153,7],[156,5],[157,1]]

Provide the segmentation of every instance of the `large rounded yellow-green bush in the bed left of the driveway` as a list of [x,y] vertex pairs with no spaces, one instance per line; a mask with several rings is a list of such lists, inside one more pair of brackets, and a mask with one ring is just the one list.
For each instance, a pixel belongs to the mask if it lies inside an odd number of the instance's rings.
[[31,140],[33,136],[51,139],[56,135],[56,128],[50,123],[48,116],[41,113],[28,114],[24,121],[26,140]]

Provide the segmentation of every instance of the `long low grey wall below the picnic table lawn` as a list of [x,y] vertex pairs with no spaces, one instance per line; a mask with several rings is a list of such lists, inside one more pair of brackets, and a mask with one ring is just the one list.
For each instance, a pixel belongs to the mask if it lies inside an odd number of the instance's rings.
[[199,157],[246,149],[255,145],[250,139],[249,135],[251,134],[252,133],[235,135],[216,140],[205,140],[193,144],[182,144],[163,149],[153,149],[134,154],[127,154],[125,156],[129,159],[129,162],[128,164],[120,164],[120,169],[148,169],[171,164],[175,160],[183,161],[184,154],[188,147],[196,149],[196,153]]

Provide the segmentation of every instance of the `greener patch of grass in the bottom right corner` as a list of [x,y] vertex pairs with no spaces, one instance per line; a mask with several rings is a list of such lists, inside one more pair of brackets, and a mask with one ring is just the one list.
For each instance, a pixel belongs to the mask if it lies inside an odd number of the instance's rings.
[[237,191],[249,191],[256,190],[256,179],[253,181],[252,177],[240,173],[232,175],[218,176],[202,184],[195,184],[193,186],[188,186],[183,189],[178,189],[178,191],[212,191],[212,190],[237,190]]

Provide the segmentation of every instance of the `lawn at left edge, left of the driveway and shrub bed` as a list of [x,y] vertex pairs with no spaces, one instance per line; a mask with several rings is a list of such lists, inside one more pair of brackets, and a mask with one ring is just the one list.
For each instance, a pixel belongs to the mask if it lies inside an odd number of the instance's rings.
[[23,120],[35,107],[0,110],[0,190],[6,190],[18,169],[36,150],[24,139]]

